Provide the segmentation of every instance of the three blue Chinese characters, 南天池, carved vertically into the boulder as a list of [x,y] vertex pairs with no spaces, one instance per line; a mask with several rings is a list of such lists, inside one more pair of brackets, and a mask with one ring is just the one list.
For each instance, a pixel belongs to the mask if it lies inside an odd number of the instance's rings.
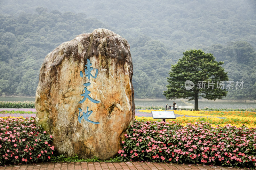
[[[90,61],[89,59],[87,59],[87,64],[86,64],[85,66],[87,67],[86,69],[84,69],[85,77],[87,77],[89,80],[90,80],[90,77],[91,77],[91,76],[92,76],[92,78],[97,78],[98,69],[94,69],[94,68],[91,67],[91,66],[92,66],[92,63],[91,63],[91,61]],[[92,70],[96,70],[96,73],[95,73],[94,76],[91,74],[91,71],[92,71]],[[81,78],[84,77],[82,71],[80,71],[80,77],[81,77]],[[94,99],[92,99],[92,98],[89,96],[89,94],[91,93],[91,92],[87,89],[87,87],[88,87],[89,85],[91,85],[91,83],[89,83],[89,82],[88,82],[88,83],[84,83],[84,86],[85,86],[85,87],[84,87],[84,90],[83,90],[84,93],[81,94],[81,96],[84,96],[84,98],[83,98],[82,100],[80,100],[79,103],[83,103],[83,102],[86,100],[86,98],[88,98],[88,99],[89,99],[91,102],[93,102],[93,103],[100,103],[100,101],[94,100]],[[81,114],[81,116],[80,116],[80,112],[82,111],[82,109],[81,109],[80,107],[78,107],[78,110],[79,110],[78,122],[81,123],[82,119],[84,118],[84,120],[86,120],[87,122],[90,122],[90,123],[93,123],[93,124],[99,124],[100,122],[93,122],[93,121],[91,121],[91,120],[88,119],[88,117],[92,114],[92,110],[88,111],[89,107],[86,107],[86,109],[87,109],[86,113],[83,112],[83,115]]]

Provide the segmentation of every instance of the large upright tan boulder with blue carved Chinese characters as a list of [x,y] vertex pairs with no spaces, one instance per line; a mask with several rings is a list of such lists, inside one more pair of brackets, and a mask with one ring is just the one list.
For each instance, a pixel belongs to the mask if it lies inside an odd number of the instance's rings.
[[108,159],[135,116],[130,46],[107,29],[78,35],[49,53],[36,90],[36,123],[58,153]]

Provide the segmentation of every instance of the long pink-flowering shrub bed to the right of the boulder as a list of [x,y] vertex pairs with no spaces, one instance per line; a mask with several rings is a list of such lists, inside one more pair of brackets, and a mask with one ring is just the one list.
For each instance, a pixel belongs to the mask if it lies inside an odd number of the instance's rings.
[[125,134],[121,161],[201,163],[255,168],[256,128],[209,123],[135,121]]

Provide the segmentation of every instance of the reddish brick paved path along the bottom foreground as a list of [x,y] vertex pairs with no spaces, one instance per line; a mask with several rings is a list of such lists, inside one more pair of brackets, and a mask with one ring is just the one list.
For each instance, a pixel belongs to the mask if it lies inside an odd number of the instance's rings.
[[169,163],[142,162],[67,162],[67,163],[39,163],[0,167],[0,170],[237,170],[224,166],[180,165]]

